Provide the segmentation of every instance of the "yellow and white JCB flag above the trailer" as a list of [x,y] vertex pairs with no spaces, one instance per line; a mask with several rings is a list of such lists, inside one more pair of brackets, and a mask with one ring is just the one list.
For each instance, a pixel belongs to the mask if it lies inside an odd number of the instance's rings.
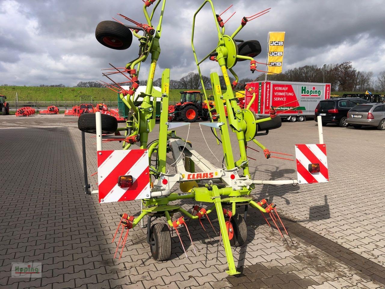
[[285,32],[269,32],[268,36],[268,74],[281,73]]

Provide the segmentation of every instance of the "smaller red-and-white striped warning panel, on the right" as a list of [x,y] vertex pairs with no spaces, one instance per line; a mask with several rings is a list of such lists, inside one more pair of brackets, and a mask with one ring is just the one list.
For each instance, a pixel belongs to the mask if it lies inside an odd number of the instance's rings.
[[329,181],[325,144],[296,144],[295,158],[298,183],[325,183]]

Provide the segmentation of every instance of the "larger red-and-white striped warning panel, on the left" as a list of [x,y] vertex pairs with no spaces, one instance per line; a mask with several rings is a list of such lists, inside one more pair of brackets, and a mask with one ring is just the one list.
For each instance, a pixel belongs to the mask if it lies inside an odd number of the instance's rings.
[[132,201],[150,196],[147,150],[97,152],[99,203]]

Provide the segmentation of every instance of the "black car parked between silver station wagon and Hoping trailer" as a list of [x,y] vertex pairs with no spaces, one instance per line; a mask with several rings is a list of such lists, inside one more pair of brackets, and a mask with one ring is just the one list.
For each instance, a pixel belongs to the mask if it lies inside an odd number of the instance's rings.
[[338,124],[341,128],[348,126],[346,116],[348,111],[358,104],[369,103],[369,101],[358,97],[331,98],[318,102],[314,112],[314,120],[322,116],[322,125],[328,123]]

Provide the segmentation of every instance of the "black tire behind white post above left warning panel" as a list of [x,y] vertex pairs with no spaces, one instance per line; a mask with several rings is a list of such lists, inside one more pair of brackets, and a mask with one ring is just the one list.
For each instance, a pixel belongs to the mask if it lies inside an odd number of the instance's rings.
[[[95,113],[85,113],[79,116],[77,127],[85,133],[96,134]],[[115,133],[118,128],[118,121],[113,116],[102,114],[102,134]]]

